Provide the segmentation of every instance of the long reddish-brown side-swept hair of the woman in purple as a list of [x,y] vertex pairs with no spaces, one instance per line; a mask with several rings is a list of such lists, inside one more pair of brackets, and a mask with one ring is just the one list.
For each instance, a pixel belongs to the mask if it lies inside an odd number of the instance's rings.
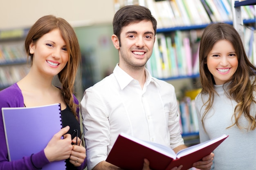
[[[69,60],[63,70],[58,73],[58,78],[61,82],[61,93],[63,95],[65,103],[68,104],[70,110],[77,117],[76,110],[78,105],[74,103],[74,82],[76,77],[76,72],[81,61],[81,51],[76,33],[72,26],[63,18],[56,18],[54,15],[46,15],[38,19],[35,24],[29,30],[27,38],[25,40],[25,49],[28,55],[28,59],[33,64],[33,54],[29,53],[29,44],[31,42],[36,43],[36,41],[49,33],[54,29],[59,29],[61,36],[67,45],[67,53],[69,55]],[[30,56],[30,58],[29,58]]]

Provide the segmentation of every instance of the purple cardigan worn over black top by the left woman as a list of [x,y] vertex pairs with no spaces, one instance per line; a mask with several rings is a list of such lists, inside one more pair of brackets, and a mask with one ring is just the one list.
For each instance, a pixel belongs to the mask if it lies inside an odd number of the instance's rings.
[[[75,96],[74,103],[79,104]],[[0,91],[0,170],[36,170],[30,161],[30,156],[23,157],[22,159],[16,161],[8,160],[8,152],[4,135],[4,125],[2,121],[3,107],[24,107],[23,96],[19,86],[16,83]],[[79,107],[77,108],[76,113],[79,117]],[[36,167],[43,167],[50,162],[45,157],[44,150],[41,150],[40,152],[33,155],[33,163]],[[77,169],[83,170],[85,167],[86,161],[84,161],[81,166],[77,167]]]

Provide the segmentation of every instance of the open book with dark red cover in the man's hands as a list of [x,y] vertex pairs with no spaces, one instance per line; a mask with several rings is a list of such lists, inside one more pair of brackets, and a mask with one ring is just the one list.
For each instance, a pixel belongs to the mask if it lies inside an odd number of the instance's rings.
[[144,158],[146,158],[150,162],[150,169],[153,170],[170,170],[180,165],[183,165],[182,170],[187,170],[192,168],[193,163],[209,155],[227,137],[227,135],[222,135],[182,149],[176,154],[166,146],[121,133],[110,150],[106,161],[124,170],[142,170]]

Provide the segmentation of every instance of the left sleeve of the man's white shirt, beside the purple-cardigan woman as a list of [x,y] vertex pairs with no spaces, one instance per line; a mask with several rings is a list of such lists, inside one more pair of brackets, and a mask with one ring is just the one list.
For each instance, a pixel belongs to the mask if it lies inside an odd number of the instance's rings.
[[88,88],[81,101],[88,170],[107,158],[110,125],[106,110],[100,95]]

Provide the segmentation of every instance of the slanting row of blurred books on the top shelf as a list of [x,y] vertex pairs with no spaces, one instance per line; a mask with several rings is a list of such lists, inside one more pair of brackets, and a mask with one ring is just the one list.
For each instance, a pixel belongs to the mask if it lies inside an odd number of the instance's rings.
[[[122,1],[122,0],[119,0]],[[150,9],[157,28],[209,24],[233,20],[231,0],[123,0],[116,7],[139,4]],[[243,6],[243,19],[254,19],[254,6]]]

